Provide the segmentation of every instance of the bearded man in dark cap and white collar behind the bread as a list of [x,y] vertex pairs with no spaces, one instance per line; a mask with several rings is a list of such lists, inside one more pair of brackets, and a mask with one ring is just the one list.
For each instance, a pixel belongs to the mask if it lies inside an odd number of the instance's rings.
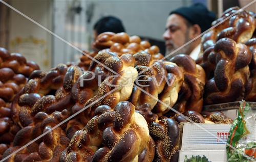
[[[177,48],[211,27],[215,20],[215,14],[208,11],[203,4],[195,4],[190,7],[182,7],[170,12],[166,21],[165,39],[166,53],[169,55]],[[201,38],[196,39],[182,49],[172,53],[172,58],[179,53],[185,53],[196,60],[200,53]]]

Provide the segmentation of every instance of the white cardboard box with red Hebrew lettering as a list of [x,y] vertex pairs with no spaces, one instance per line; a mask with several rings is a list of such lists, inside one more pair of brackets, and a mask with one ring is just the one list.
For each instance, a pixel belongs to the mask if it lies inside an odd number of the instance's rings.
[[181,123],[179,161],[189,161],[186,159],[192,156],[225,161],[230,127],[231,124]]

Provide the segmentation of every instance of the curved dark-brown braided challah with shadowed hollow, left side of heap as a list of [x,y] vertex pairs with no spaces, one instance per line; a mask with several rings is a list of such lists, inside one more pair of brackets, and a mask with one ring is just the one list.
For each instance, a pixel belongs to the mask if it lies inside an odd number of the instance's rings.
[[78,67],[67,68],[64,64],[48,73],[34,71],[12,103],[14,122],[24,127],[32,123],[33,116],[40,111],[52,113],[69,109],[74,104],[71,90],[80,73]]

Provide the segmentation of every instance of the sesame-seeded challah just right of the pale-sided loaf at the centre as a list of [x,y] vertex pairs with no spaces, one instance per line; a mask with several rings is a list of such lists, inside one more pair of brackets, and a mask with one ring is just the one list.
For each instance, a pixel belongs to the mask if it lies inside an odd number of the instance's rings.
[[[136,53],[134,57],[136,60],[135,68],[141,74],[136,80],[136,86],[134,86],[130,100],[136,106],[149,103],[151,109],[153,109],[157,104],[158,94],[164,89],[167,71],[163,62],[154,61],[152,56],[147,52],[142,51]],[[143,89],[144,92],[138,87]]]

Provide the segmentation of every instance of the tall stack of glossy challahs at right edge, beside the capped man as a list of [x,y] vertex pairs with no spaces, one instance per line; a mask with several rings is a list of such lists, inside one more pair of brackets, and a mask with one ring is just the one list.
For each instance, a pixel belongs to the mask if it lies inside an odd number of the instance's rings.
[[[223,21],[231,14],[234,15]],[[197,61],[201,61],[200,65],[207,78],[205,104],[241,99],[256,101],[253,40],[255,18],[253,12],[240,11],[238,7],[230,8],[221,18],[212,22],[212,25],[220,24],[203,36],[203,58]]]

